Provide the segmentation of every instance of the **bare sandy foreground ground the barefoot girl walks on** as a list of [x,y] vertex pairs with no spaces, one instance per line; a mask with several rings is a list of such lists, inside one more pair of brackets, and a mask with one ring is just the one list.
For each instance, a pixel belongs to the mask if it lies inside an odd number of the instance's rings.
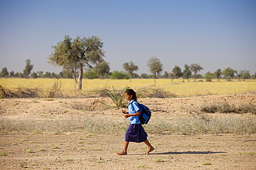
[[[1,135],[0,169],[255,169],[256,136],[149,134],[156,148],[130,143],[118,156],[123,134]],[[210,165],[203,165],[208,162]]]

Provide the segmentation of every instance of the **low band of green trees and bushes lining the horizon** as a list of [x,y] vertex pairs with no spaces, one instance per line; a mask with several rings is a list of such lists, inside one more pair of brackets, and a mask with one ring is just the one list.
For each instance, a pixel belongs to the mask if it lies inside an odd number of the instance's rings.
[[[250,75],[248,70],[242,70],[237,72],[236,70],[232,70],[231,68],[226,68],[221,72],[221,70],[217,70],[214,73],[208,72],[205,75],[202,74],[191,74],[191,72],[175,72],[177,70],[177,66],[175,66],[176,69],[174,69],[174,72],[168,73],[164,72],[164,74],[159,75],[157,78],[205,78],[206,81],[211,81],[212,79],[227,79],[228,81],[231,81],[232,79],[239,79],[239,80],[245,80],[245,79],[256,79],[256,72],[255,74]],[[187,70],[188,71],[188,70]],[[95,70],[85,70],[83,73],[83,78],[88,79],[95,79],[95,78],[111,78],[111,79],[129,79],[130,75],[125,71],[113,71],[109,72],[107,74],[104,74],[104,76],[98,76],[98,73]],[[195,77],[196,76],[196,77]],[[74,78],[73,72],[70,71],[62,71],[59,74],[56,74],[55,72],[32,72],[29,76],[22,72],[8,72],[6,67],[4,67],[1,70],[0,73],[1,78]],[[131,78],[154,78],[154,74],[131,74]]]

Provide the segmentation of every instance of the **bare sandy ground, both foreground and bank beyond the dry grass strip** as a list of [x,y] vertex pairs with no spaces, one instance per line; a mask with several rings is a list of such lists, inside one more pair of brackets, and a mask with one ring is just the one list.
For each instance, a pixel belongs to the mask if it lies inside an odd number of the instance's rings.
[[[100,102],[99,102],[100,100]],[[154,118],[190,116],[208,103],[253,103],[256,95],[143,98]],[[108,98],[1,99],[0,116],[10,120],[44,121],[73,116],[125,119],[121,109],[109,108]],[[253,114],[208,114],[255,118]],[[127,120],[128,122],[129,120]],[[150,122],[148,125],[150,126]],[[154,134],[147,131],[155,151],[145,155],[144,143],[129,144],[128,155],[118,156],[124,132],[0,134],[0,169],[256,169],[256,134]]]

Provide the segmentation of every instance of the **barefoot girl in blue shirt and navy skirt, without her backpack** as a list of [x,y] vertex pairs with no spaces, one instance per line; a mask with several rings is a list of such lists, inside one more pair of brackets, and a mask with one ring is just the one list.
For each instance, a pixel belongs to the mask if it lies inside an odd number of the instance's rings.
[[145,142],[148,147],[148,150],[145,153],[147,155],[149,152],[154,151],[154,147],[152,147],[147,140],[147,134],[143,129],[143,126],[140,124],[140,119],[138,118],[140,115],[140,108],[137,103],[136,92],[134,92],[133,89],[127,89],[125,92],[125,98],[129,100],[129,112],[122,110],[122,113],[125,118],[129,118],[130,125],[125,133],[125,147],[122,151],[118,152],[118,155],[127,155],[129,142]]

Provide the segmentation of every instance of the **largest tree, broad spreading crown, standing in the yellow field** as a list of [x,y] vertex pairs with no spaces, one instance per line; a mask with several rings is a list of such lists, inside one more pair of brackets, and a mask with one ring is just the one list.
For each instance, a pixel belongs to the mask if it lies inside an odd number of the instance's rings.
[[82,89],[83,68],[93,68],[93,65],[103,61],[104,51],[103,43],[98,36],[89,38],[80,38],[77,36],[72,41],[69,36],[64,37],[64,41],[60,41],[53,47],[54,52],[48,58],[49,63],[62,66],[64,70],[73,72],[73,78],[76,81],[75,73],[78,72],[78,89]]

